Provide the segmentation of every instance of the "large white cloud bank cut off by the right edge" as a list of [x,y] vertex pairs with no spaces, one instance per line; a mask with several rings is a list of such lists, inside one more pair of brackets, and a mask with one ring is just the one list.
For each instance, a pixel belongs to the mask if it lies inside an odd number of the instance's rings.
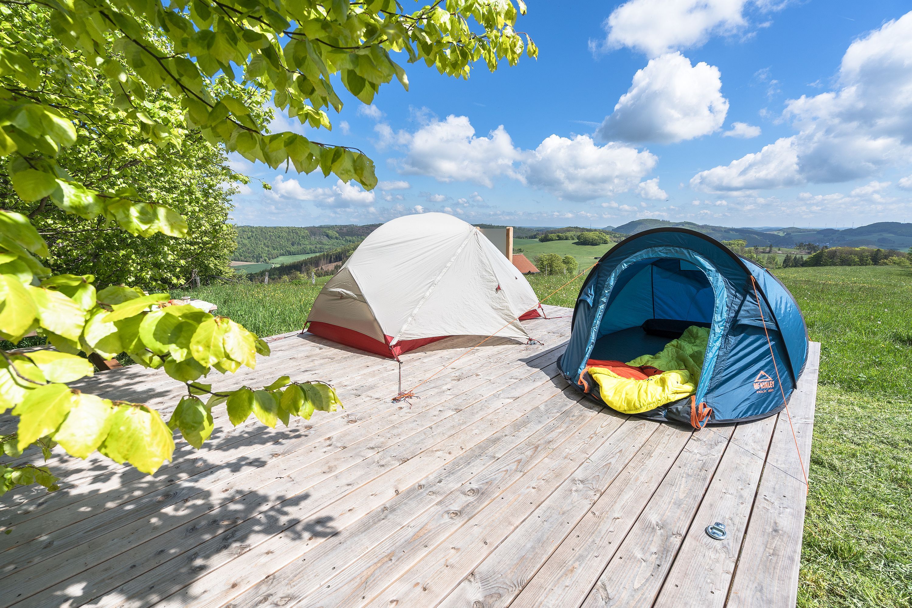
[[[690,180],[706,191],[744,191],[874,175],[912,161],[912,13],[845,51],[834,91],[791,99],[798,132]],[[782,169],[773,175],[776,167]]]

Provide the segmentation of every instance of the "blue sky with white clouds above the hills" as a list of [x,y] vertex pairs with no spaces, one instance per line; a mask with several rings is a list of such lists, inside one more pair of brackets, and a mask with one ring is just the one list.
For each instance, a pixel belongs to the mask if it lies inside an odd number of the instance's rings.
[[375,191],[233,157],[273,185],[252,181],[234,221],[912,222],[908,2],[528,5],[516,29],[537,61],[481,65],[466,81],[403,59],[409,92],[394,81],[369,108],[346,95],[331,133],[275,119],[273,130],[365,150]]

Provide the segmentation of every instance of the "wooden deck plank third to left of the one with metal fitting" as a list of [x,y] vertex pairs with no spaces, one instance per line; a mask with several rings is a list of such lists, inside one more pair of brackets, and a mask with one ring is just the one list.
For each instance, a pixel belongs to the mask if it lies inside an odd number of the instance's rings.
[[475,566],[440,608],[509,606],[658,428],[658,423],[642,418],[627,421],[586,465]]

